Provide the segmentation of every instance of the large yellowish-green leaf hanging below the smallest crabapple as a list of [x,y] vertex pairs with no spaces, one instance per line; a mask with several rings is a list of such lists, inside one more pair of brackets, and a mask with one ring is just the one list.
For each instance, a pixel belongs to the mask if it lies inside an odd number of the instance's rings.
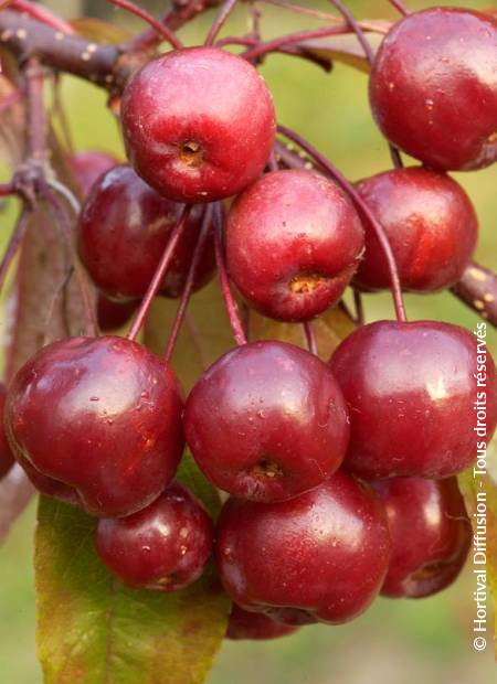
[[[215,515],[219,498],[184,459],[180,478]],[[36,530],[38,644],[45,684],[200,684],[230,601],[211,566],[175,594],[129,589],[93,546],[95,520],[41,498]]]

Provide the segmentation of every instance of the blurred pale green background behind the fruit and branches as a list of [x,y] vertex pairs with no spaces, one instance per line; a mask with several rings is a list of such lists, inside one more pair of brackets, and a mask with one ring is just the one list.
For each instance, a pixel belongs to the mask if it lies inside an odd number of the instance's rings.
[[[302,0],[306,7],[329,10],[328,2]],[[70,17],[81,2],[52,0],[50,7]],[[106,9],[103,1],[88,3],[93,11]],[[140,4],[160,11],[165,2]],[[412,9],[431,2],[408,0]],[[445,6],[483,9],[489,0],[441,2]],[[349,0],[361,18],[394,18],[387,0]],[[261,4],[263,34],[271,38],[303,26],[318,25],[298,14]],[[139,30],[121,11],[107,9],[116,23]],[[181,32],[190,44],[201,42],[209,25],[204,17]],[[233,17],[229,33],[246,31],[246,8]],[[315,65],[285,56],[272,56],[263,73],[274,94],[278,118],[326,152],[351,179],[358,180],[390,165],[384,140],[368,108],[367,77],[337,64],[331,74]],[[66,78],[64,101],[77,149],[98,148],[121,154],[119,132],[106,110],[105,94]],[[477,258],[497,269],[496,188],[497,167],[473,174],[456,174],[466,188],[480,220]],[[1,214],[6,239],[14,207]],[[389,296],[366,298],[369,320],[392,316]],[[436,318],[473,328],[476,317],[448,293],[408,297],[412,319]],[[497,350],[497,334],[489,344]],[[40,684],[34,646],[34,592],[32,533],[34,503],[18,521],[0,549],[0,683]],[[472,646],[473,584],[469,569],[455,587],[440,597],[421,601],[380,599],[356,622],[339,627],[309,627],[294,637],[266,643],[226,642],[216,660],[209,684],[490,684],[497,681],[491,643],[486,652]],[[489,634],[490,635],[490,634]],[[489,639],[489,642],[491,639]],[[165,683],[166,684],[166,683]],[[169,683],[168,683],[169,684]],[[173,684],[173,682],[171,682]]]

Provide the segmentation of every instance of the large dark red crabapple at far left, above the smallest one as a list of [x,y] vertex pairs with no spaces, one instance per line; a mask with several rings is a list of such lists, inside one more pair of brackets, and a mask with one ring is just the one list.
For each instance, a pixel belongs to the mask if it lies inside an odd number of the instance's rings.
[[135,513],[172,480],[183,448],[171,368],[123,338],[72,338],[17,374],[6,404],[14,456],[74,488],[98,516]]

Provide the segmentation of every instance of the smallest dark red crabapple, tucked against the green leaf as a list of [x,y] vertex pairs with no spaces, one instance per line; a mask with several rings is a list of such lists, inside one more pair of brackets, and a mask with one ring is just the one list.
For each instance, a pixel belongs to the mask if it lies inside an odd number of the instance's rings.
[[195,496],[173,483],[149,506],[95,530],[99,557],[120,581],[178,591],[199,579],[212,551],[213,525]]

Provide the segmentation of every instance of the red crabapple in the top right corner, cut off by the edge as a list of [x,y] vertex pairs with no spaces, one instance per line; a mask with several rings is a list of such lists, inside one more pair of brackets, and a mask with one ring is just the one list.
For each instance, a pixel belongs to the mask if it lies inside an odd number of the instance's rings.
[[370,79],[383,135],[435,169],[497,159],[497,21],[456,8],[415,12],[387,34]]

